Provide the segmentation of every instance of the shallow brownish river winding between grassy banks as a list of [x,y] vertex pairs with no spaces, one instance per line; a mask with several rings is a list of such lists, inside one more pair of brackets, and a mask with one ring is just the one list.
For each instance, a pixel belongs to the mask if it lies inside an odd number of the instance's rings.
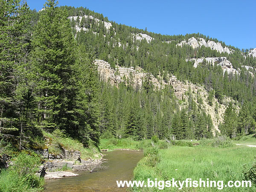
[[79,176],[46,180],[45,191],[125,191],[124,188],[117,187],[116,180],[131,180],[133,169],[143,157],[143,152],[116,150],[104,154],[107,162],[102,165],[107,166],[106,169],[92,173],[74,172]]

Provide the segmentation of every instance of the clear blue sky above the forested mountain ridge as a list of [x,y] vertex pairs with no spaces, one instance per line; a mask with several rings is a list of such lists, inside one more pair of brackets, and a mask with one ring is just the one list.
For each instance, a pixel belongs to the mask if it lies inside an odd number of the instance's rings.
[[[27,0],[42,9],[46,0]],[[256,0],[59,0],[109,20],[163,35],[201,33],[240,49],[256,48]]]

